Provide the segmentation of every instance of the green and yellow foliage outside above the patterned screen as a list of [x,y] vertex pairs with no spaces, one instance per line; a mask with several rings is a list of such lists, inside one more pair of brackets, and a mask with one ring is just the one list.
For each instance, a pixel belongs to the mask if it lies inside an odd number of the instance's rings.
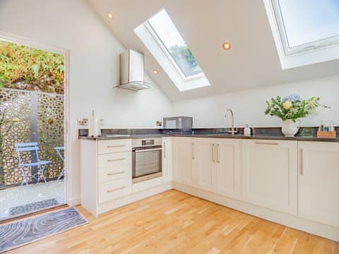
[[64,93],[64,56],[0,41],[0,88]]

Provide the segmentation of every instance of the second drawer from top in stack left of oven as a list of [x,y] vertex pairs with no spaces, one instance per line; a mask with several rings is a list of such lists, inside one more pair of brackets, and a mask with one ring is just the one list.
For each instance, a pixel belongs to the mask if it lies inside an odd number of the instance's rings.
[[110,167],[114,169],[131,168],[131,152],[116,152],[108,155],[99,155],[97,166]]

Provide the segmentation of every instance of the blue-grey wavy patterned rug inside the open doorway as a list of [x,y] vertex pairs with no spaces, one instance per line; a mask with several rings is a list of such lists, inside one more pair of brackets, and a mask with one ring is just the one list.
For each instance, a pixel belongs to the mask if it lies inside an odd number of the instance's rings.
[[0,253],[87,224],[74,207],[0,226]]

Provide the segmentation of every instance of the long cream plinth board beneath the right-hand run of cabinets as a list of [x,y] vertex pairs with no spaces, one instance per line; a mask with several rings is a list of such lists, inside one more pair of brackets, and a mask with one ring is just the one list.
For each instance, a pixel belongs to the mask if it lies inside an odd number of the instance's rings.
[[324,238],[328,238],[333,241],[339,242],[339,228],[335,226],[329,226],[329,225],[321,224],[318,222],[312,222],[308,219],[302,219],[302,218],[295,217],[290,214],[285,214],[283,212],[277,212],[274,210],[267,209],[265,207],[251,205],[241,200],[227,198],[222,195],[210,193],[208,191],[203,191],[199,188],[185,186],[181,183],[173,183],[173,187],[175,190],[182,191],[184,193],[194,195],[198,198],[203,198],[211,202],[215,202],[219,205],[230,207],[234,210],[245,212],[247,214],[260,217],[262,219],[267,219],[270,222],[276,222],[279,224],[283,224],[293,229],[298,229],[298,230],[305,231],[310,234],[315,234],[317,236],[322,236]]

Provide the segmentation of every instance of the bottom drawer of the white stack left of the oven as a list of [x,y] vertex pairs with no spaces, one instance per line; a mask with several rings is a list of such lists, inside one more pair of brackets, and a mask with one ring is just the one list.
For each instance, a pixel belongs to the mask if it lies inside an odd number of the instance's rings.
[[116,179],[106,183],[99,183],[99,202],[107,202],[115,198],[121,198],[132,192],[132,179]]

